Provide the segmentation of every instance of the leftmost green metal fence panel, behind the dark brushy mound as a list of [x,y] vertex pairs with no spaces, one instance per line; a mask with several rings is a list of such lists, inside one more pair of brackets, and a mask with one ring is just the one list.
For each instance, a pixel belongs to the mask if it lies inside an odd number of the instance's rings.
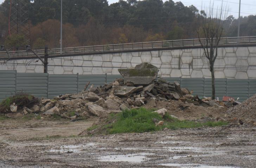
[[0,101],[16,92],[16,71],[0,71]]

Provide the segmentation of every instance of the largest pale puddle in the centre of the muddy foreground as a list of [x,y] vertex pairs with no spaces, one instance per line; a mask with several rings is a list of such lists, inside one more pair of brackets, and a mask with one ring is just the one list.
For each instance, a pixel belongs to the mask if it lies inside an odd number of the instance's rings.
[[127,154],[127,155],[107,155],[101,156],[98,159],[103,162],[142,162],[148,160],[146,155],[151,153]]

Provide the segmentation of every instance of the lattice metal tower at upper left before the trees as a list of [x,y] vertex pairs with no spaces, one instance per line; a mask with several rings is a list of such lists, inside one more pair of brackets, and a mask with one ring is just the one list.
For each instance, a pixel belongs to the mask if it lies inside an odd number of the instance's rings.
[[29,0],[10,0],[9,12],[9,35],[23,35],[25,39],[25,44],[30,44],[28,2]]

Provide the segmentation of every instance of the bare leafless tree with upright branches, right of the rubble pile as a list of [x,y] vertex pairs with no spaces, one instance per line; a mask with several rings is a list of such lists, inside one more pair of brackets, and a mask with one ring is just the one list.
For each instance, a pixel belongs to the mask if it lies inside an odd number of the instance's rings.
[[224,22],[227,17],[227,6],[220,6],[214,9],[213,4],[209,10],[201,15],[201,29],[197,29],[197,35],[201,47],[204,50],[205,57],[209,62],[209,70],[212,77],[212,99],[215,99],[215,76],[214,76],[214,63],[218,56],[218,45],[223,35]]

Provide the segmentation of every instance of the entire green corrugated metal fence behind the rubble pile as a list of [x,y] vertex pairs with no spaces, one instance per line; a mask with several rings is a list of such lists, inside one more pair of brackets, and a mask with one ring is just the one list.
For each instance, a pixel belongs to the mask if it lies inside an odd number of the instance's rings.
[[[48,73],[17,73],[0,71],[0,101],[19,92],[35,97],[53,98],[60,94],[79,93],[90,82],[94,86],[110,83],[121,75],[49,75]],[[199,97],[211,96],[211,79],[206,78],[164,78],[168,82],[177,81],[181,87],[193,90]],[[90,85],[88,87],[90,87]],[[239,97],[246,100],[256,93],[256,79],[215,79],[216,97]]]

